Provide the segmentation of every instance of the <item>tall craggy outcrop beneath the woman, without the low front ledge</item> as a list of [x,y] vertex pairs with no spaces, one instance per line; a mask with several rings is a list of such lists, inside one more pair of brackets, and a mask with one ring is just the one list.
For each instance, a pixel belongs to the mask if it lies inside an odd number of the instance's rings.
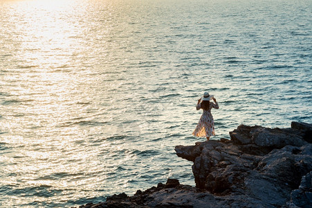
[[224,198],[253,198],[258,206],[282,207],[291,196],[292,201],[300,198],[295,194],[303,191],[292,190],[312,171],[311,128],[305,123],[297,126],[300,128],[239,125],[230,132],[231,140],[176,146],[175,150],[178,157],[194,162],[198,189]]

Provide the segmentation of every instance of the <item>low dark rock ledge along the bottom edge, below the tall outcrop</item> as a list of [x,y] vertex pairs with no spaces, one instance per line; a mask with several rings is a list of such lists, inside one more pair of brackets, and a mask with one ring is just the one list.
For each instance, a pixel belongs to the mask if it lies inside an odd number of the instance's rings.
[[[178,181],[178,180],[176,180]],[[138,190],[134,196],[125,193],[113,195],[106,202],[89,203],[79,208],[149,208],[149,207],[179,207],[179,208],[223,208],[223,207],[260,207],[260,200],[249,196],[215,196],[195,187],[176,183],[176,187],[166,188],[159,183],[146,191]],[[171,184],[172,186],[173,184]]]

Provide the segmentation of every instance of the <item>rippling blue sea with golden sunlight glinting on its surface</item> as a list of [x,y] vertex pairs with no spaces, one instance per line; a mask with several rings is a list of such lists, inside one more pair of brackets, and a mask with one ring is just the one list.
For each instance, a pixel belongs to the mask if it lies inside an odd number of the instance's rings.
[[217,135],[312,123],[310,0],[0,1],[0,207],[71,207],[194,185],[208,91]]

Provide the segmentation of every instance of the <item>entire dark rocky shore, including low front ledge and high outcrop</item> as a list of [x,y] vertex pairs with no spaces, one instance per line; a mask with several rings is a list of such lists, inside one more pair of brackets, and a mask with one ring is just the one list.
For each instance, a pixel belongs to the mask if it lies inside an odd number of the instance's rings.
[[230,140],[176,146],[178,157],[194,162],[196,187],[169,179],[80,207],[312,207],[312,127],[291,127],[239,125]]

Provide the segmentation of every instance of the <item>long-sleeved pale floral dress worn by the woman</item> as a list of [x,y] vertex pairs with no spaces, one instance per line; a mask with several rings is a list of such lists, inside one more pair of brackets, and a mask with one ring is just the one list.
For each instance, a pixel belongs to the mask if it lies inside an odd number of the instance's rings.
[[[201,119],[199,119],[199,123],[197,124],[193,135],[196,137],[210,137],[215,135],[214,132],[214,120],[211,114],[212,107],[215,109],[219,109],[218,103],[210,102],[210,106],[208,110],[203,110],[203,114],[201,115]],[[201,109],[201,103],[196,105],[196,110]]]

